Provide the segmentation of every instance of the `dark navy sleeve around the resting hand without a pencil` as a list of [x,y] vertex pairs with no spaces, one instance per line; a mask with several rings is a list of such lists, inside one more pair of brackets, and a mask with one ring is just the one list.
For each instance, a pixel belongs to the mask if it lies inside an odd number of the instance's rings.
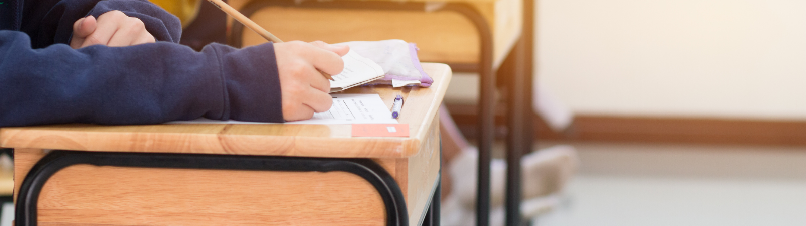
[[69,44],[73,23],[79,18],[90,14],[98,18],[111,10],[139,18],[157,41],[179,43],[182,31],[179,18],[147,0],[28,0],[19,31],[31,36],[34,48]]

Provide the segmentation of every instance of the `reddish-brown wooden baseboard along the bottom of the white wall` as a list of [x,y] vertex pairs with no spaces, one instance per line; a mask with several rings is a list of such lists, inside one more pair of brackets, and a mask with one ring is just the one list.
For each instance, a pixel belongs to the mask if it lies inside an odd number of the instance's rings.
[[[452,116],[473,138],[472,106],[448,106]],[[502,109],[502,108],[501,108]],[[763,121],[684,117],[613,117],[578,115],[569,129],[557,133],[535,115],[538,140],[596,142],[664,142],[732,145],[806,146],[806,121]],[[503,113],[496,114],[497,138],[505,138]]]

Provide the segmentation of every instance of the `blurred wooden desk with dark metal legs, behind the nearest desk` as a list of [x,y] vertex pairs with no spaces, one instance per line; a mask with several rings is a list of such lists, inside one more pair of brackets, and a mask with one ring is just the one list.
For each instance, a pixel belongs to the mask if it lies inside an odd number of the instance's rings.
[[[504,75],[507,103],[508,225],[521,224],[520,158],[532,146],[532,0],[230,0],[243,14],[287,40],[405,39],[418,43],[424,61],[451,64],[480,75],[476,225],[488,225],[489,163],[498,102],[496,72]],[[229,43],[242,47],[265,39],[232,23]]]

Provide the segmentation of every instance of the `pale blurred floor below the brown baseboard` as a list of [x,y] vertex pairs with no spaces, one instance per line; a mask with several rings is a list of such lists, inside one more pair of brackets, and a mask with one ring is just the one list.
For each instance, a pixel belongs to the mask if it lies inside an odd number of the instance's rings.
[[806,225],[806,147],[572,145],[580,173],[537,225]]

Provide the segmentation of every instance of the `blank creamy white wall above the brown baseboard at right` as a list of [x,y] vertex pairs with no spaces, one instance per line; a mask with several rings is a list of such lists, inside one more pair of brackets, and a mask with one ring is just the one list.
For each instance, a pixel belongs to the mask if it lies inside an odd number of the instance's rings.
[[539,83],[576,113],[806,120],[806,1],[538,0]]

